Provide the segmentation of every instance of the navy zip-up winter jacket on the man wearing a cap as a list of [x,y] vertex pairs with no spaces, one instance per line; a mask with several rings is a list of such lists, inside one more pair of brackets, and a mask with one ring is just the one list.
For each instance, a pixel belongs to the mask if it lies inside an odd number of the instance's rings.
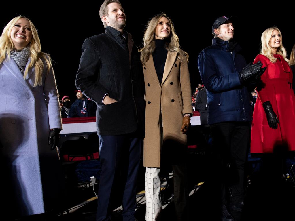
[[241,48],[213,38],[212,45],[200,52],[198,67],[207,89],[208,124],[252,120],[249,92],[238,72],[246,66]]

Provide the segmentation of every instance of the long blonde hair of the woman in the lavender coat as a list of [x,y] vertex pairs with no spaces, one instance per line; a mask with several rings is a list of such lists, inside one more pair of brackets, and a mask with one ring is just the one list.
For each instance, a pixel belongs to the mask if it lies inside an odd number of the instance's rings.
[[35,66],[34,87],[36,87],[37,85],[41,86],[42,85],[42,72],[43,72],[43,68],[44,68],[44,63],[41,60],[41,58],[43,57],[45,60],[46,67],[47,67],[47,73],[49,72],[49,70],[51,68],[51,59],[50,59],[50,55],[48,55],[44,52],[41,52],[41,43],[40,43],[37,29],[35,28],[34,24],[32,23],[32,21],[30,19],[23,17],[23,16],[18,16],[18,17],[13,18],[12,20],[10,20],[10,22],[8,22],[8,24],[5,26],[5,28],[3,29],[2,35],[0,37],[0,64],[5,60],[6,56],[7,56],[7,59],[9,60],[10,51],[14,49],[14,45],[13,45],[12,39],[10,37],[10,33],[11,33],[11,30],[14,27],[15,23],[19,19],[27,19],[28,22],[30,23],[31,32],[32,32],[32,40],[27,45],[27,47],[30,49],[30,52],[31,52],[30,53],[31,61],[28,65],[28,67],[26,68],[26,70],[24,71],[24,79],[26,78],[26,76],[28,74],[28,70],[30,70],[30,68]]

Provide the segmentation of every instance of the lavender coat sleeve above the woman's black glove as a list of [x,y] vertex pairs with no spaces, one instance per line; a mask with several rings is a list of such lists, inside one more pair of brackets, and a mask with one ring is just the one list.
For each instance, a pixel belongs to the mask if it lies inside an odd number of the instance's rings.
[[[47,59],[50,59],[47,57]],[[47,72],[46,63],[44,63],[43,72]],[[49,128],[59,128],[62,129],[61,115],[60,115],[60,103],[58,98],[58,91],[56,88],[55,76],[53,68],[50,65],[49,72],[45,75],[43,93],[45,101],[48,108],[48,119],[49,119]]]

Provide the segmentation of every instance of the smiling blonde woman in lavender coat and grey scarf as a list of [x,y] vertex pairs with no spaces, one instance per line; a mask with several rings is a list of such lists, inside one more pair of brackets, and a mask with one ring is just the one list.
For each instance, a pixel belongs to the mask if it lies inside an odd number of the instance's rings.
[[28,18],[15,17],[2,32],[0,79],[1,211],[12,219],[42,214],[61,196],[63,175],[52,150],[62,123],[50,55],[41,52]]

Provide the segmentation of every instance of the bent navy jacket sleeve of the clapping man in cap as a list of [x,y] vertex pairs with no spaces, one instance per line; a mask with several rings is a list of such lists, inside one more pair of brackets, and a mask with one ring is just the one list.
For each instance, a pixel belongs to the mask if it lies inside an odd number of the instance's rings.
[[[224,64],[226,65],[226,64]],[[241,81],[238,72],[228,73],[227,75],[217,75],[219,72],[216,68],[213,57],[205,50],[201,51],[198,57],[198,67],[202,82],[210,92],[219,93],[222,91],[232,90],[240,86]]]

